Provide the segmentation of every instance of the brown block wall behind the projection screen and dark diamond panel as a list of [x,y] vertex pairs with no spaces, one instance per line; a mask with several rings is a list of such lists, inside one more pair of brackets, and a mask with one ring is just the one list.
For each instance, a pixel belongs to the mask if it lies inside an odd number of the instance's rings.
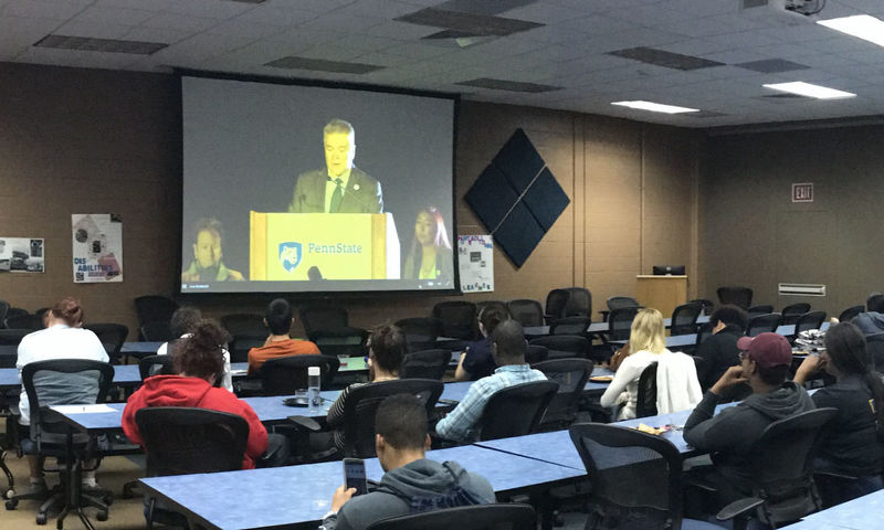
[[[179,99],[168,75],[0,63],[0,235],[46,239],[46,273],[0,274],[0,299],[33,310],[74,295],[90,320],[134,330],[136,296],[171,294],[180,224]],[[683,129],[463,102],[455,161],[460,233],[485,232],[463,195],[517,127],[571,204],[520,269],[495,251],[496,292],[467,299],[543,303],[551,288],[585,285],[599,310],[608,296],[631,295],[634,276],[653,264],[685,264],[694,274],[703,137]],[[70,215],[109,212],[123,215],[125,280],[74,285]],[[261,311],[270,298],[193,300],[221,316]],[[440,299],[379,294],[337,300],[355,325],[370,326],[425,315]]]

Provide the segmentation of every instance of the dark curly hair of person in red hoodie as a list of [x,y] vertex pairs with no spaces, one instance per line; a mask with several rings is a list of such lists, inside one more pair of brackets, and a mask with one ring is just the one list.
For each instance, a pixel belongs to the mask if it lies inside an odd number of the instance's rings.
[[230,340],[223,328],[212,322],[202,322],[193,330],[193,335],[182,339],[172,354],[176,373],[215,381],[224,373],[224,348]]

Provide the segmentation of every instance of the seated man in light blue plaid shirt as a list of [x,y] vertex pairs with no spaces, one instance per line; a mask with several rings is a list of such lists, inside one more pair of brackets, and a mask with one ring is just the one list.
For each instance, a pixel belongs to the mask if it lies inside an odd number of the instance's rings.
[[497,368],[492,375],[470,385],[457,406],[443,417],[435,432],[443,438],[470,442],[478,436],[478,421],[485,404],[498,390],[532,381],[546,381],[546,375],[525,362],[528,343],[516,320],[504,320],[491,333],[491,354]]

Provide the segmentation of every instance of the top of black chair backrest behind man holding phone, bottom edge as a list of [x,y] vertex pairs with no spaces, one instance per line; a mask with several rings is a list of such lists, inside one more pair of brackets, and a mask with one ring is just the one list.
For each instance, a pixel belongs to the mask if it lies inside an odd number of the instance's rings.
[[528,505],[476,505],[411,513],[377,521],[367,530],[534,530],[537,518]]

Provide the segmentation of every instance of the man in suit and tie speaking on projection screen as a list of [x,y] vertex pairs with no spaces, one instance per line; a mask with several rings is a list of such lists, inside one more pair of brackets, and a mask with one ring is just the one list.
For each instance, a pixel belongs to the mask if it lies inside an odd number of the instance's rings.
[[333,119],[323,128],[326,167],[301,173],[291,213],[382,213],[380,183],[352,163],[352,125]]

